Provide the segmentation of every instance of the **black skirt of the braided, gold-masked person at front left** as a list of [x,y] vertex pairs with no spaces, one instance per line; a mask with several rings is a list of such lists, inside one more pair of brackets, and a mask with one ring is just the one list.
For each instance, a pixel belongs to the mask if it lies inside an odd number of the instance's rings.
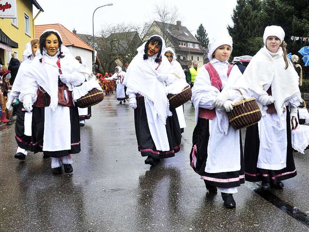
[[[32,110],[32,141],[34,153],[43,151],[44,107],[33,107]],[[61,119],[59,119],[61,120]],[[44,151],[50,157],[62,157],[80,152],[80,131],[78,108],[70,107],[71,149],[64,151]]]

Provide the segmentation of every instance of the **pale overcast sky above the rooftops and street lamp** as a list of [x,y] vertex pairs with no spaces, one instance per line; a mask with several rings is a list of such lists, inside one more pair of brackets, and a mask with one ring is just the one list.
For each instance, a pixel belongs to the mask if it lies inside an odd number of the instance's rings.
[[[92,14],[95,8],[113,3],[98,9],[94,16],[95,32],[104,25],[118,23],[143,24],[154,20],[154,6],[157,1],[141,0],[53,0],[37,1],[44,12],[36,18],[35,24],[60,23],[70,31],[74,28],[77,33],[92,34]],[[202,23],[209,37],[226,32],[226,26],[231,24],[231,15],[236,0],[165,0],[170,6],[177,6],[181,24],[195,35]],[[57,9],[60,7],[60,9]],[[35,9],[35,14],[37,9]]]

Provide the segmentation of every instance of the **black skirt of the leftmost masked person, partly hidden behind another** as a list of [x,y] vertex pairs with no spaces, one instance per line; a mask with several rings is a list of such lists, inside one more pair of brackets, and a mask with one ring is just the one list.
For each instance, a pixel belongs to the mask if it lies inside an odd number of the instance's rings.
[[19,102],[16,111],[16,123],[15,123],[15,139],[20,148],[27,151],[33,151],[33,142],[31,136],[25,135],[25,111],[22,111],[23,103]]

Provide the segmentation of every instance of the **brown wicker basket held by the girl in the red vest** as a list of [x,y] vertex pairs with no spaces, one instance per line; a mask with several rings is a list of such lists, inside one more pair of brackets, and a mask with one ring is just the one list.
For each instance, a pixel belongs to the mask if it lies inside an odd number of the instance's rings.
[[231,126],[235,130],[244,129],[260,121],[262,114],[255,98],[244,98],[233,105],[233,110],[227,112]]

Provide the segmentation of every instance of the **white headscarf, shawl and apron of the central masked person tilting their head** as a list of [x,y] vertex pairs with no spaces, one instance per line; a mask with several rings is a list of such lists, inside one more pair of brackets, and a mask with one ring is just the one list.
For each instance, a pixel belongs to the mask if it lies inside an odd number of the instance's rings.
[[[160,37],[159,35],[154,36]],[[134,93],[142,94],[145,98],[147,121],[156,149],[158,151],[169,151],[165,125],[167,116],[171,116],[171,111],[169,110],[169,101],[165,93],[165,84],[157,79],[157,75],[158,73],[173,73],[174,70],[164,56],[165,42],[162,37],[161,39],[163,42],[161,53],[162,62],[160,65],[158,63],[159,68],[155,70],[153,63],[151,63],[157,54],[153,57],[148,57],[146,60],[143,59],[145,42],[137,49],[138,54],[133,58],[128,67],[125,82],[128,87],[127,91],[131,89]],[[171,79],[174,80],[175,78],[171,74]],[[167,82],[173,81],[170,80]]]

